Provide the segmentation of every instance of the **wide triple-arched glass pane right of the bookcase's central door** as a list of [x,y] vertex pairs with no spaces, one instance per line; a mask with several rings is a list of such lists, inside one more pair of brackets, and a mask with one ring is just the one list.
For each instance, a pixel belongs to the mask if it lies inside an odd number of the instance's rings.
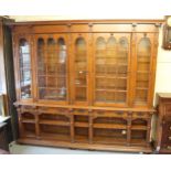
[[[96,41],[96,101],[126,103],[128,42],[110,36]],[[121,93],[120,93],[121,92]]]

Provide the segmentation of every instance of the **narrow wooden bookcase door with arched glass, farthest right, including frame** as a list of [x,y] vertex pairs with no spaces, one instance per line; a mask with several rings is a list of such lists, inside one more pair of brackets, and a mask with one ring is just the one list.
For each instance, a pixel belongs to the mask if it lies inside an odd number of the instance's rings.
[[[154,77],[154,34],[153,33],[137,33],[136,34],[136,53],[133,62],[135,106],[150,106],[151,85]],[[153,55],[154,54],[154,55]]]

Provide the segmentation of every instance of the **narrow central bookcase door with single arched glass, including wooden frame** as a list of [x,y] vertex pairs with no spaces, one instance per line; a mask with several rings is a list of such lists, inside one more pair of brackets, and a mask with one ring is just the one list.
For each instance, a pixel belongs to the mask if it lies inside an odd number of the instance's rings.
[[76,105],[88,105],[90,101],[89,75],[90,75],[90,56],[89,56],[89,34],[72,34],[72,103]]

